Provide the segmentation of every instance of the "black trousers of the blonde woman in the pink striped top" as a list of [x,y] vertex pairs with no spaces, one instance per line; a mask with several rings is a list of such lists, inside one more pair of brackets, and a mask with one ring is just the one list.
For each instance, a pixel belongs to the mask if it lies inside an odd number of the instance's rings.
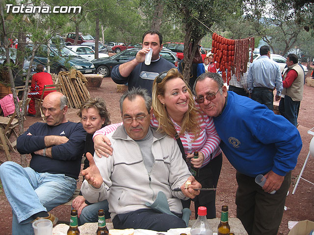
[[[217,188],[218,179],[222,166],[222,153],[212,159],[209,164],[199,171],[199,176],[195,177],[201,183],[202,188]],[[216,191],[201,191],[194,199],[195,218],[197,218],[197,210],[199,207],[207,208],[207,218],[216,218]],[[190,208],[191,199],[183,201],[183,208]]]

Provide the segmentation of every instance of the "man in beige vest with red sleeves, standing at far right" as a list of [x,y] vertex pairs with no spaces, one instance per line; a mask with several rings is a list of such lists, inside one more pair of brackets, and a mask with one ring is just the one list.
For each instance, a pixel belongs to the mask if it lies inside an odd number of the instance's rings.
[[297,126],[298,109],[303,98],[304,72],[298,65],[296,54],[288,54],[286,64],[288,70],[283,75],[282,97],[279,102],[279,111],[294,126]]

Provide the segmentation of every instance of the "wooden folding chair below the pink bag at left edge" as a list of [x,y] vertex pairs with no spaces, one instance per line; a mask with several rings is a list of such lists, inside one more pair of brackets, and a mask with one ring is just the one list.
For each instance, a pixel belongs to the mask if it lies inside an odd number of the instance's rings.
[[[30,98],[26,100],[26,106],[28,105]],[[22,100],[19,101],[19,108],[22,106]],[[11,117],[0,117],[0,148],[4,150],[6,159],[12,161],[9,150],[16,152],[14,147],[16,146],[16,140],[18,134],[15,128],[19,125],[19,121],[16,117],[16,111]],[[15,136],[15,141],[10,141],[12,134]]]

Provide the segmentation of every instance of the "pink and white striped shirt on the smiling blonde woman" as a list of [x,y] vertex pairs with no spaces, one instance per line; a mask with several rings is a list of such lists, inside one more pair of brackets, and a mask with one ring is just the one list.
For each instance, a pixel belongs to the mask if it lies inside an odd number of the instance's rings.
[[[198,104],[196,105],[196,107],[200,109]],[[204,154],[205,159],[202,164],[203,167],[209,163],[210,156],[212,156],[211,159],[213,159],[221,153],[221,149],[219,147],[220,138],[211,117],[208,117],[201,111],[197,120],[199,121],[199,125],[201,128],[199,137],[194,140],[194,135],[192,133],[184,132],[182,135],[180,135],[180,139],[182,141],[185,155],[191,154],[195,151],[202,152]],[[179,126],[173,120],[172,122],[175,126],[176,131],[179,133],[181,130],[181,126]],[[123,122],[105,126],[102,129],[96,131],[93,138],[100,134],[107,135],[112,131],[115,131],[117,127],[122,124]],[[158,121],[154,115],[153,119],[151,120],[151,126],[158,127]]]

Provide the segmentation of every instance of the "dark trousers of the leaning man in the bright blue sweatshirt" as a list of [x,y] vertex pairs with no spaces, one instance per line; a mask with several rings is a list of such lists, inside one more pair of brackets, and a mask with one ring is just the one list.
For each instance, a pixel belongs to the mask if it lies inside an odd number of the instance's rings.
[[254,177],[236,172],[238,188],[235,204],[239,218],[249,235],[277,235],[284,213],[287,192],[291,183],[291,171],[274,194],[264,192]]

